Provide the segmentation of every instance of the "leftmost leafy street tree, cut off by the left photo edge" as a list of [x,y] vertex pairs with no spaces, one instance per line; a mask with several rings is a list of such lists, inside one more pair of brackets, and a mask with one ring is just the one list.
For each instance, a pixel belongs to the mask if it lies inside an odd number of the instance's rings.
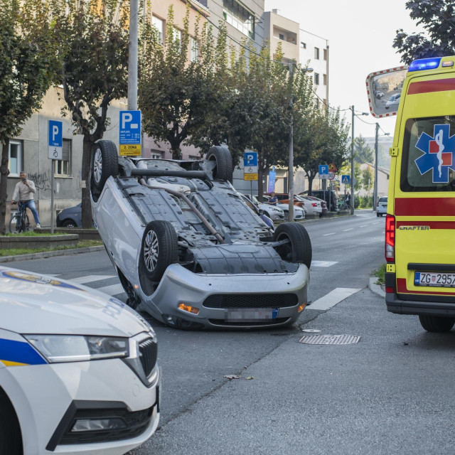
[[43,0],[0,0],[0,234],[5,233],[9,139],[41,107],[58,63],[52,9]]

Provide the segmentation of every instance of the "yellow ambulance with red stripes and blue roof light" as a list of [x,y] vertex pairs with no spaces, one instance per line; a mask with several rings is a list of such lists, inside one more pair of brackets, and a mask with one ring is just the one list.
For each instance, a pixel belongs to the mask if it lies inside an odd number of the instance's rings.
[[418,315],[431,332],[455,323],[454,62],[426,58],[367,77],[371,113],[397,116],[385,220],[387,310]]

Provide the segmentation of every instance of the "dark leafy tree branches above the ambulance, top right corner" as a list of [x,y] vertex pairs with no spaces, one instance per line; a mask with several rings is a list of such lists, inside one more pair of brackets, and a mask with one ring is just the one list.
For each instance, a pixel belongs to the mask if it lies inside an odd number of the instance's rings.
[[393,47],[409,65],[417,58],[442,57],[455,53],[455,4],[452,0],[408,0],[406,9],[423,26],[424,33],[397,30]]

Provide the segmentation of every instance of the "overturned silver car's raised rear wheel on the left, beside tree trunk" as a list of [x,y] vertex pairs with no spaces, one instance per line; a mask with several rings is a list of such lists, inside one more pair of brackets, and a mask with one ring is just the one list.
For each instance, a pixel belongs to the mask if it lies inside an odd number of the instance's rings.
[[92,190],[101,193],[109,177],[119,175],[117,146],[112,141],[97,141],[92,149]]

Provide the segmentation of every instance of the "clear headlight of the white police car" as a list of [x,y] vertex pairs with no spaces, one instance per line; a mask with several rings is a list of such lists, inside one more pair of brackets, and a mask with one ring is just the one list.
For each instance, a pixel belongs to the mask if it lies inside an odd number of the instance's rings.
[[24,335],[49,363],[83,362],[129,355],[128,338],[117,336]]

